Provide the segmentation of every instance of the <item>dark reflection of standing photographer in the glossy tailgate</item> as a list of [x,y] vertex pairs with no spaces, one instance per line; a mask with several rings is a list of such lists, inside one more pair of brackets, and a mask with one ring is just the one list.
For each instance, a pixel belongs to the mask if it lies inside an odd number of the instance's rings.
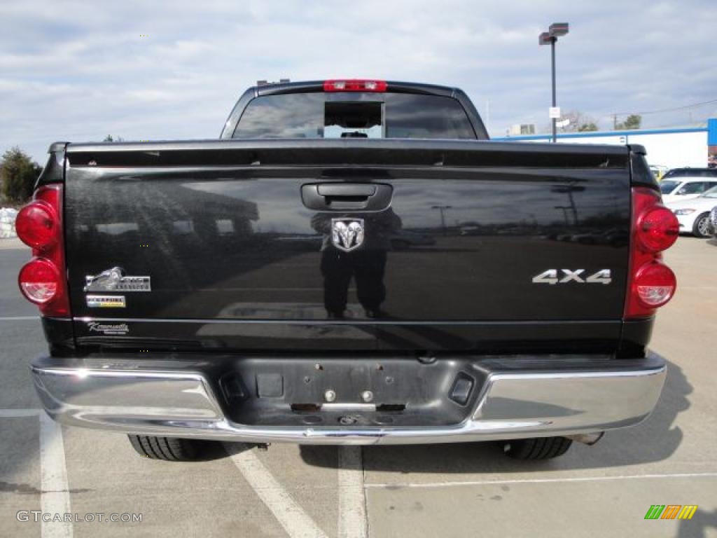
[[[401,229],[401,219],[393,209],[364,215],[364,242],[356,250],[344,252],[333,245],[332,220],[335,213],[317,213],[311,226],[323,235],[321,244],[321,275],[323,303],[329,318],[342,318],[348,301],[348,285],[356,279],[356,295],[366,316],[381,316],[381,303],[386,299],[384,273],[386,252],[391,248],[391,235]],[[351,217],[342,215],[350,220]]]

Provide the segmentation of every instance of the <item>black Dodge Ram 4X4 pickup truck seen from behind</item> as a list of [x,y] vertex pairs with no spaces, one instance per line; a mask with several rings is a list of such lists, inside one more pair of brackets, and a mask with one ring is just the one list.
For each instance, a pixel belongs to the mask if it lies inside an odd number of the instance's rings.
[[678,224],[644,148],[492,142],[455,88],[257,85],[220,140],[54,143],[16,229],[45,410],[151,458],[551,458],[645,419],[665,379]]

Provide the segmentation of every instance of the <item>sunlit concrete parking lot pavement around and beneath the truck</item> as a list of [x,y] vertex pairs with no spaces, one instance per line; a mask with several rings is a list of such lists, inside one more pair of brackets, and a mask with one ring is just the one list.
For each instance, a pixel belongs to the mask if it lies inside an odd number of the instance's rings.
[[[27,363],[44,338],[15,291],[27,252],[0,248],[0,534],[717,537],[717,243],[683,237],[666,258],[679,290],[652,339],[670,363],[663,396],[645,423],[594,447],[526,463],[496,444],[229,445],[231,457],[219,446],[207,461],[168,463],[140,458],[123,435],[53,428],[37,413]],[[699,508],[689,521],[645,521],[652,504]],[[16,517],[62,506],[143,519]]]

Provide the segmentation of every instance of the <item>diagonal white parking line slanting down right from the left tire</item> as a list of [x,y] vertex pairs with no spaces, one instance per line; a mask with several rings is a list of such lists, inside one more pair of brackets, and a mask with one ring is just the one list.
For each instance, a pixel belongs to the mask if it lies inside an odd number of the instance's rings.
[[252,449],[247,450],[238,443],[226,443],[224,448],[257,496],[291,538],[326,538],[326,534],[301,506],[296,504],[288,491],[282,488]]

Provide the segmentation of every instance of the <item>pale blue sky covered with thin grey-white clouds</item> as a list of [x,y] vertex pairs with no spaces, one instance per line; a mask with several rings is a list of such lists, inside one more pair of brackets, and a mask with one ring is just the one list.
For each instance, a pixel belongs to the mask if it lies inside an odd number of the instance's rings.
[[247,86],[280,77],[456,85],[493,136],[543,128],[551,22],[571,25],[563,110],[606,129],[614,112],[647,127],[717,117],[715,0],[23,0],[0,21],[0,151],[41,162],[58,140],[216,138]]

